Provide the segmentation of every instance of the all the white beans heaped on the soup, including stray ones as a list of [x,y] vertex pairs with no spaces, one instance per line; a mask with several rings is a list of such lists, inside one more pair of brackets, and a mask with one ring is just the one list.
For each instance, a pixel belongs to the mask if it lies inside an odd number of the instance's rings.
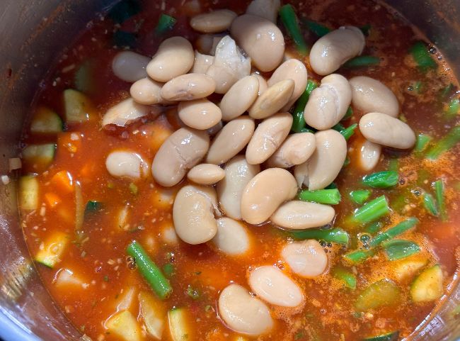
[[[350,104],[365,113],[359,124],[366,138],[363,169],[375,167],[381,146],[407,149],[415,143],[413,130],[397,118],[398,100],[388,87],[369,77],[347,80],[333,73],[364,49],[364,35],[351,26],[324,35],[310,52],[311,68],[325,76],[304,110],[306,123],[318,132],[289,134],[293,119],[287,111],[306,88],[307,69],[284,56],[284,37],[275,24],[279,7],[278,0],[254,0],[240,16],[229,10],[195,16],[190,26],[203,33],[197,46],[205,54],[176,36],[163,40],[152,58],[124,51],[113,60],[117,77],[134,84],[131,98],[110,108],[103,125],[124,127],[149,114],[153,105],[177,106],[183,128],[161,145],[151,174],[167,187],[185,176],[189,180],[173,204],[178,237],[192,245],[211,242],[231,257],[243,255],[250,245],[241,220],[287,229],[333,222],[333,207],[294,197],[302,186],[323,189],[338,176],[347,142],[331,128]],[[265,79],[259,72],[272,75]],[[214,93],[223,95],[219,103],[207,99]],[[149,164],[135,151],[114,150],[106,166],[114,177],[149,174]],[[304,294],[292,274],[311,278],[328,266],[316,240],[290,242],[280,257],[289,266],[284,271],[269,264],[248,275],[256,297],[238,284],[222,291],[219,315],[229,328],[248,335],[267,332],[273,321],[264,302],[301,306]]]

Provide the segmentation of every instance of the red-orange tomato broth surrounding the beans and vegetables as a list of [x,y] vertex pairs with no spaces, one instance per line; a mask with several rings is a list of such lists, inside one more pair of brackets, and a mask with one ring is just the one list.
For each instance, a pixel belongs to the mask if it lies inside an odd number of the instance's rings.
[[[108,330],[106,321],[117,311],[126,309],[137,318],[142,332],[139,340],[155,340],[143,326],[139,312],[138,294],[147,292],[156,302],[165,323],[162,340],[172,340],[168,331],[166,313],[172,308],[185,308],[188,316],[186,340],[238,340],[238,333],[227,328],[219,318],[217,299],[219,292],[231,282],[248,289],[248,273],[260,265],[276,264],[286,269],[280,250],[292,240],[279,228],[266,223],[260,226],[246,224],[251,235],[251,249],[246,255],[229,257],[212,245],[188,245],[177,239],[173,232],[172,203],[174,194],[187,184],[183,181],[166,189],[155,184],[149,175],[144,180],[130,181],[112,177],[105,168],[105,158],[116,149],[135,150],[149,164],[163,140],[178,128],[176,107],[159,108],[158,118],[148,117],[127,128],[108,131],[101,129],[100,118],[114,104],[129,96],[130,84],[117,79],[112,72],[111,61],[120,51],[113,43],[117,30],[134,33],[132,50],[143,55],[154,55],[164,38],[181,35],[192,43],[198,37],[188,25],[192,8],[185,1],[168,1],[159,9],[157,1],[141,1],[139,13],[115,25],[108,17],[95,18],[88,29],[59,55],[50,68],[50,76],[35,97],[31,117],[40,108],[50,108],[64,118],[63,91],[74,89],[81,65],[89,65],[91,79],[86,83],[86,96],[91,101],[90,120],[86,123],[65,125],[65,131],[57,135],[38,135],[26,125],[24,145],[43,142],[57,144],[51,164],[24,162],[23,174],[37,174],[39,206],[33,211],[23,210],[23,230],[33,257],[55,233],[64,233],[69,242],[52,268],[37,264],[42,281],[69,320],[91,337],[92,340],[124,340]],[[243,13],[247,4],[236,1],[200,1],[201,11],[231,9]],[[321,23],[329,28],[343,25],[370,26],[363,55],[379,57],[379,65],[345,68],[338,73],[347,79],[365,75],[379,79],[389,86],[401,104],[403,120],[415,132],[425,133],[437,141],[458,124],[458,113],[448,115],[447,106],[455,98],[458,84],[449,65],[436,47],[429,45],[437,69],[423,72],[410,57],[410,47],[424,38],[398,13],[373,1],[294,1],[299,16]],[[177,18],[173,30],[165,35],[155,35],[154,28],[160,13]],[[279,25],[282,27],[282,25]],[[318,38],[302,26],[307,43],[311,46]],[[285,33],[284,28],[282,28]],[[287,37],[287,35],[284,35]],[[287,50],[301,58],[307,67],[308,58],[296,52],[292,41],[287,40]],[[270,74],[265,74],[270,76]],[[309,79],[320,80],[309,68]],[[81,81],[81,79],[80,79]],[[88,86],[90,84],[90,86]],[[449,87],[449,84],[452,86]],[[213,98],[214,100],[214,98]],[[215,97],[219,101],[219,96]],[[349,126],[357,123],[364,114],[354,108]],[[357,166],[362,135],[357,131],[348,141],[350,163],[340,172],[335,183],[342,194],[342,201],[335,206],[334,226],[344,228],[350,234],[350,245],[322,242],[328,255],[328,268],[315,279],[292,276],[304,292],[305,302],[300,308],[270,306],[275,325],[258,340],[362,340],[398,330],[399,337],[410,335],[435,308],[437,301],[415,303],[410,298],[410,286],[420,270],[411,276],[398,279],[395,272],[398,262],[391,262],[384,251],[361,264],[350,265],[343,261],[343,254],[362,245],[364,228],[347,225],[346,219],[359,207],[350,201],[349,192],[363,189],[360,179],[369,174]],[[391,189],[372,189],[371,198],[385,195],[392,209],[381,219],[382,229],[396,225],[407,217],[417,217],[416,228],[403,237],[420,245],[421,251],[410,259],[422,259],[425,268],[439,264],[444,275],[444,291],[452,281],[458,259],[460,221],[457,209],[460,189],[459,146],[452,147],[437,161],[427,160],[424,152],[398,152],[384,149],[384,157],[372,172],[391,167],[398,171],[399,182]],[[70,186],[55,174],[68,172]],[[62,173],[61,173],[62,174]],[[432,183],[442,179],[447,218],[432,216],[423,206],[424,192],[435,196]],[[76,184],[78,181],[79,185]],[[81,197],[76,196],[76,186]],[[77,190],[78,191],[78,190]],[[84,214],[81,234],[75,233],[77,202],[98,201],[100,207]],[[80,208],[81,209],[81,208]],[[120,215],[126,215],[125,219]],[[121,223],[120,223],[121,222]],[[127,257],[126,247],[137,240],[151,259],[163,268],[173,269],[168,274],[173,292],[160,301]],[[333,269],[344,267],[355,275],[356,289],[350,289],[333,276]],[[59,274],[70,270],[74,281],[60,283]],[[372,283],[391,279],[401,293],[389,306],[357,311],[355,301]],[[447,291],[445,291],[447,293]],[[251,340],[243,336],[239,340]]]

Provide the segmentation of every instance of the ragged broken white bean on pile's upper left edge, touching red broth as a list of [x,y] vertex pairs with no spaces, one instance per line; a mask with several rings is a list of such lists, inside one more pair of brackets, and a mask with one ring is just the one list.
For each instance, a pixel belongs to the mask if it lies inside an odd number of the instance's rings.
[[103,116],[102,125],[106,126],[114,124],[119,127],[124,127],[125,125],[146,116],[149,112],[149,106],[137,104],[132,98],[125,99],[108,109]]

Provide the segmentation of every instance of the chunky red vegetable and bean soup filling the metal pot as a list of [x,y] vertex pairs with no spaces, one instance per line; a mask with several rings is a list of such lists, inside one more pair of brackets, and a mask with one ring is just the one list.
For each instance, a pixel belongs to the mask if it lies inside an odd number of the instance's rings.
[[30,254],[87,340],[400,340],[457,267],[457,89],[384,4],[121,1],[36,95]]

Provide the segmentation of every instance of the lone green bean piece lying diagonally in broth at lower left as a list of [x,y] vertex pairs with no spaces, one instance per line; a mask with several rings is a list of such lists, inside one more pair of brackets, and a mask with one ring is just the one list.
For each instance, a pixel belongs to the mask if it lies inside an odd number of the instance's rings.
[[151,288],[154,289],[156,294],[161,298],[168,298],[173,291],[171,284],[168,279],[163,275],[159,267],[150,259],[149,255],[146,254],[144,248],[133,240],[128,245],[126,252],[128,255],[134,258],[137,269],[144,276],[144,279],[150,284]]

